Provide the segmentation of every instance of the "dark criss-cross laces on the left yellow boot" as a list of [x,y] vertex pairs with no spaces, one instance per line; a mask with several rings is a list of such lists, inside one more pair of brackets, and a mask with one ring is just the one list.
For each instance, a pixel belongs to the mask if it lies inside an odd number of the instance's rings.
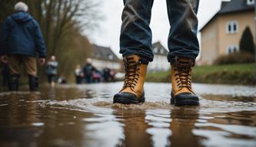
[[140,75],[138,65],[140,63],[136,62],[133,57],[128,57],[124,60],[125,65],[125,83],[122,90],[129,87],[133,92],[135,92],[135,86],[138,83],[138,77]]

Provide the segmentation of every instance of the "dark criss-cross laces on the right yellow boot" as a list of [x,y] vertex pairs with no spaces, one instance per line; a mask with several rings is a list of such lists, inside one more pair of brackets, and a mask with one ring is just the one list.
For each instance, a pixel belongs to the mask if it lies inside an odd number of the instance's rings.
[[177,63],[175,70],[175,80],[178,80],[178,88],[186,87],[191,90],[191,64],[180,64]]

